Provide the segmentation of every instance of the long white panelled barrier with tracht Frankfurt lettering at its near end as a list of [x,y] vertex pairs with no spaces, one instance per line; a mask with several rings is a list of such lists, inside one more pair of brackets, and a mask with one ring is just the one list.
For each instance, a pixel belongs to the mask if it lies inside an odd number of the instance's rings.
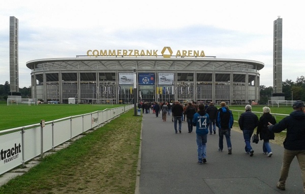
[[99,126],[130,109],[133,105],[70,116],[54,121],[0,131],[0,175],[42,155],[44,152]]

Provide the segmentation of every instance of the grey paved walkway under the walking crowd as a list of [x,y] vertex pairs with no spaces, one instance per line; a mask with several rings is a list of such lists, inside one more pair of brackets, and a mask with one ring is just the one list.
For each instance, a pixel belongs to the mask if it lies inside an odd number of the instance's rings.
[[[218,131],[218,130],[217,130]],[[277,189],[283,146],[271,144],[272,157],[262,152],[262,141],[251,143],[254,156],[245,153],[241,131],[231,131],[232,155],[224,138],[224,152],[218,151],[218,132],[208,135],[207,163],[197,164],[196,134],[189,134],[187,122],[175,134],[171,117],[143,114],[140,175],[136,193],[302,193],[302,180],[294,158],[286,190]]]

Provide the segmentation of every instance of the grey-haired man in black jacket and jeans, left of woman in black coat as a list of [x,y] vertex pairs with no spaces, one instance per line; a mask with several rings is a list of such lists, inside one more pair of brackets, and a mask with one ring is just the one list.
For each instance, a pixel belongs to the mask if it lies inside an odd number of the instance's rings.
[[255,127],[258,126],[258,117],[256,114],[251,112],[252,107],[251,105],[246,105],[245,107],[246,112],[242,113],[238,119],[238,124],[240,127],[240,130],[242,130],[243,139],[245,139],[246,143],[246,153],[250,154],[250,156],[253,156],[254,150],[251,147],[250,140],[251,136],[254,132]]

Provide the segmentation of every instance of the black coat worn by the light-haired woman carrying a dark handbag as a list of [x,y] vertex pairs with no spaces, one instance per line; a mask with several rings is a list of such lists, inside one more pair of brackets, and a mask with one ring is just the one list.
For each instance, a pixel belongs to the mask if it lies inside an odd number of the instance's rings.
[[276,124],[277,121],[270,113],[264,113],[259,118],[259,124],[257,126],[257,135],[259,134],[260,140],[274,140],[275,133],[268,130],[268,122]]

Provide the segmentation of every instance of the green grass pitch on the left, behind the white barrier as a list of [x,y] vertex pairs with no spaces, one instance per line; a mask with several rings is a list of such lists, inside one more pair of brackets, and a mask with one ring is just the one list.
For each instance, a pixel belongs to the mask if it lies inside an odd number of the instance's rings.
[[102,111],[124,105],[67,105],[67,104],[41,104],[41,105],[12,105],[0,104],[0,131],[9,128],[56,120],[74,115]]

